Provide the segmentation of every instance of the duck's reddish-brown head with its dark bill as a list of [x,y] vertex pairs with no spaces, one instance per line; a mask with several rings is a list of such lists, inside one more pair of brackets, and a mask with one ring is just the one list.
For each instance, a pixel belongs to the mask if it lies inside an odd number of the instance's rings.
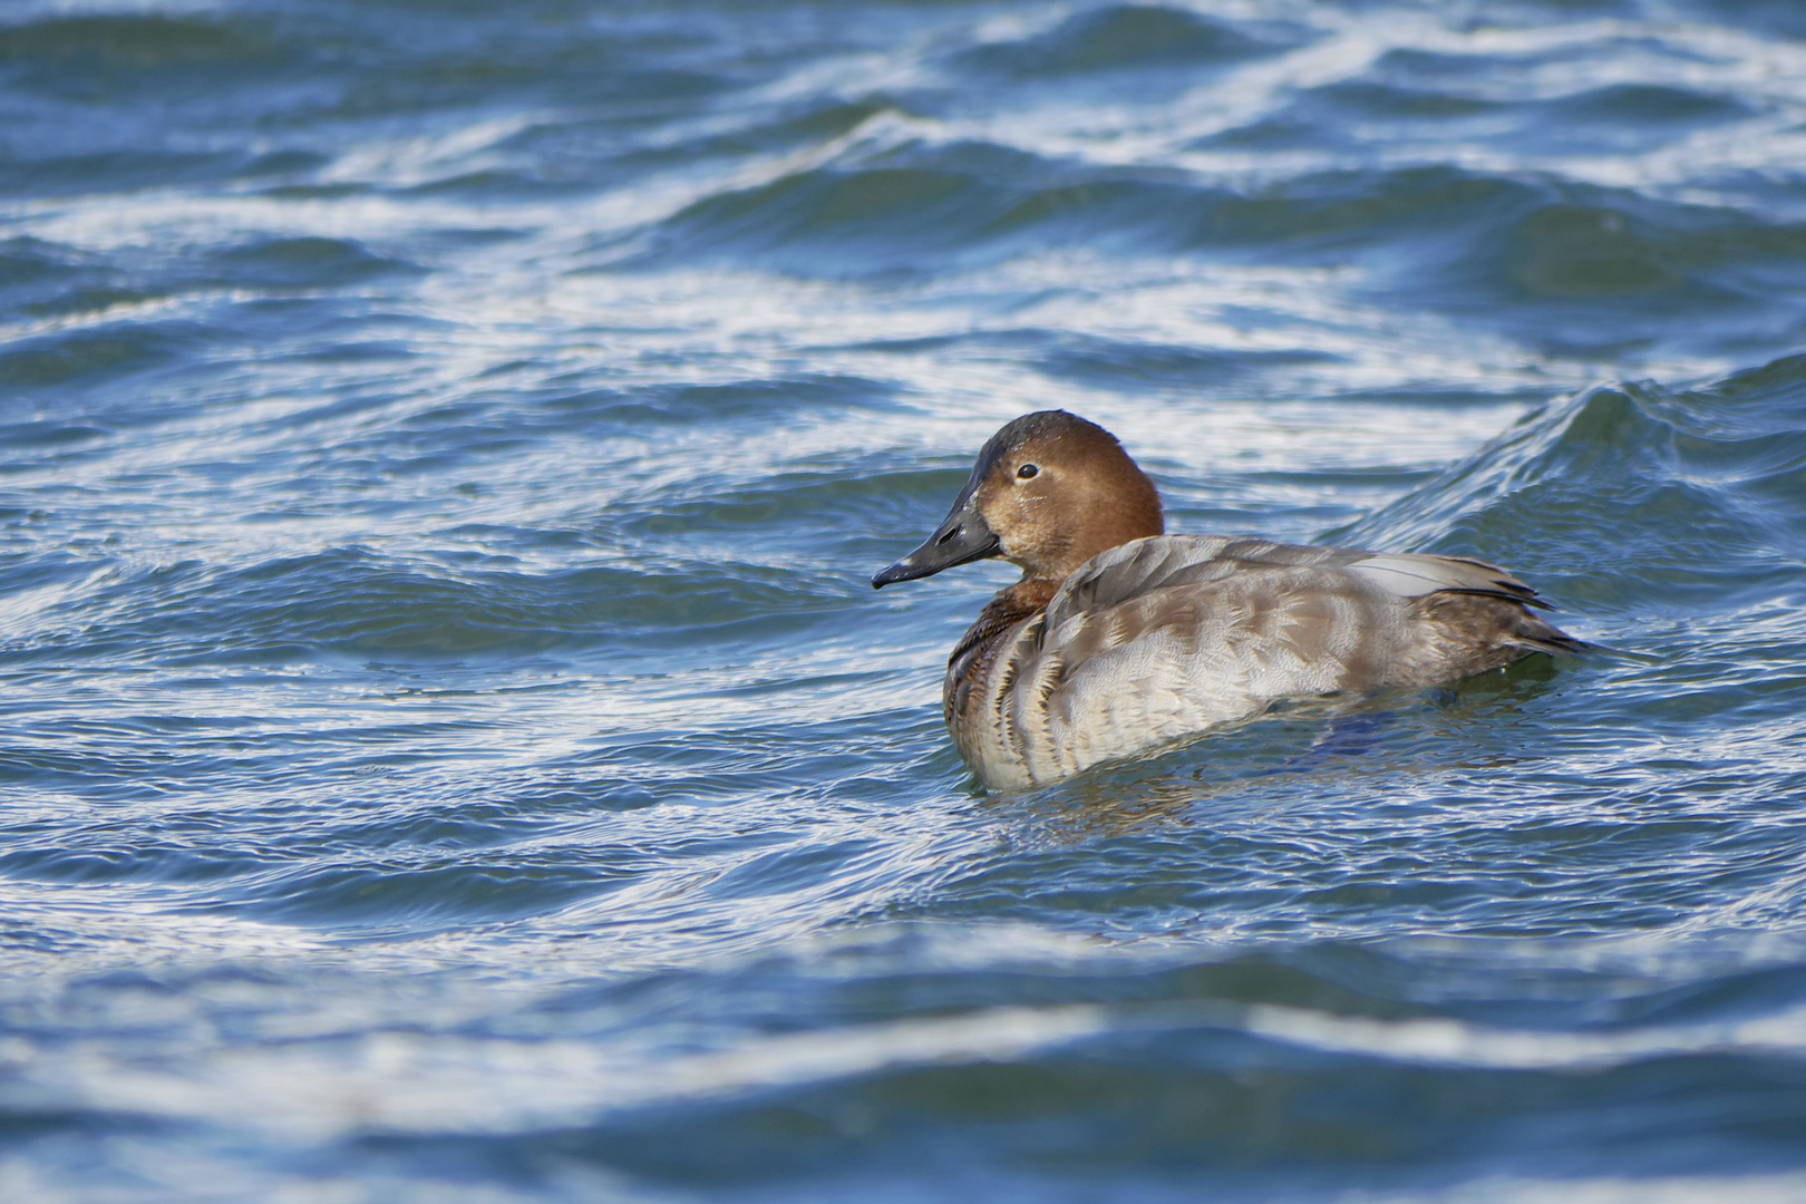
[[1076,413],[1042,410],[990,437],[946,520],[872,588],[988,556],[1028,579],[1064,581],[1098,552],[1163,531],[1154,482],[1116,437]]

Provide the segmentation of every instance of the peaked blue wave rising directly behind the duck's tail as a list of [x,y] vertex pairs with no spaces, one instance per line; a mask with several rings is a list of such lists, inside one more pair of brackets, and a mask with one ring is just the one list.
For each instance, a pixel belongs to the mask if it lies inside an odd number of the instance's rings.
[[1531,413],[1335,540],[1483,556],[1604,612],[1721,612],[1806,585],[1806,356]]

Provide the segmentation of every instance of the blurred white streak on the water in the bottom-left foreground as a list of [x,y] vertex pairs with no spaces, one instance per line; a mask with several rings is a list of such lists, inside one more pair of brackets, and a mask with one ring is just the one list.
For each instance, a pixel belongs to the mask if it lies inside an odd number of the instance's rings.
[[[880,1070],[1006,1061],[1109,1027],[1094,1005],[798,1033],[692,1056],[567,1040],[383,1033],[332,1058],[314,1042],[213,1056],[190,1074],[88,1049],[54,1072],[18,1060],[7,1094],[38,1105],[181,1116],[298,1139],[345,1132],[520,1132],[647,1105],[703,1101]],[[40,1058],[42,1060],[42,1058]],[[34,1074],[38,1072],[38,1074]],[[20,1083],[23,1079],[23,1085]]]

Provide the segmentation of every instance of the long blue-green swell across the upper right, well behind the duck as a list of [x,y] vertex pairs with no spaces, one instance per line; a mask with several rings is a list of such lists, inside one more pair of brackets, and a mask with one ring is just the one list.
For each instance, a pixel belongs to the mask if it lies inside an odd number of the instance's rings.
[[1327,170],[1250,186],[993,143],[896,146],[703,197],[616,269],[751,264],[928,274],[1051,247],[1347,269],[1385,307],[1459,314],[1551,354],[1652,339],[1721,354],[1806,321],[1806,224],[1551,175]]

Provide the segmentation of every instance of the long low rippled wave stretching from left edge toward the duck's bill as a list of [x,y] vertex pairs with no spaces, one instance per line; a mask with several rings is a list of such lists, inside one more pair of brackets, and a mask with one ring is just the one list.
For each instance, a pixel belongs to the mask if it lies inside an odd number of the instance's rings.
[[[471,554],[473,560],[493,560]],[[506,558],[504,558],[506,560]],[[49,630],[13,643],[13,664],[70,653],[112,662],[244,664],[318,655],[461,661],[692,646],[713,630],[795,632],[827,597],[778,569],[683,561],[545,574],[457,567],[336,547],[247,567],[179,561],[119,569]],[[773,626],[775,625],[775,626]]]

